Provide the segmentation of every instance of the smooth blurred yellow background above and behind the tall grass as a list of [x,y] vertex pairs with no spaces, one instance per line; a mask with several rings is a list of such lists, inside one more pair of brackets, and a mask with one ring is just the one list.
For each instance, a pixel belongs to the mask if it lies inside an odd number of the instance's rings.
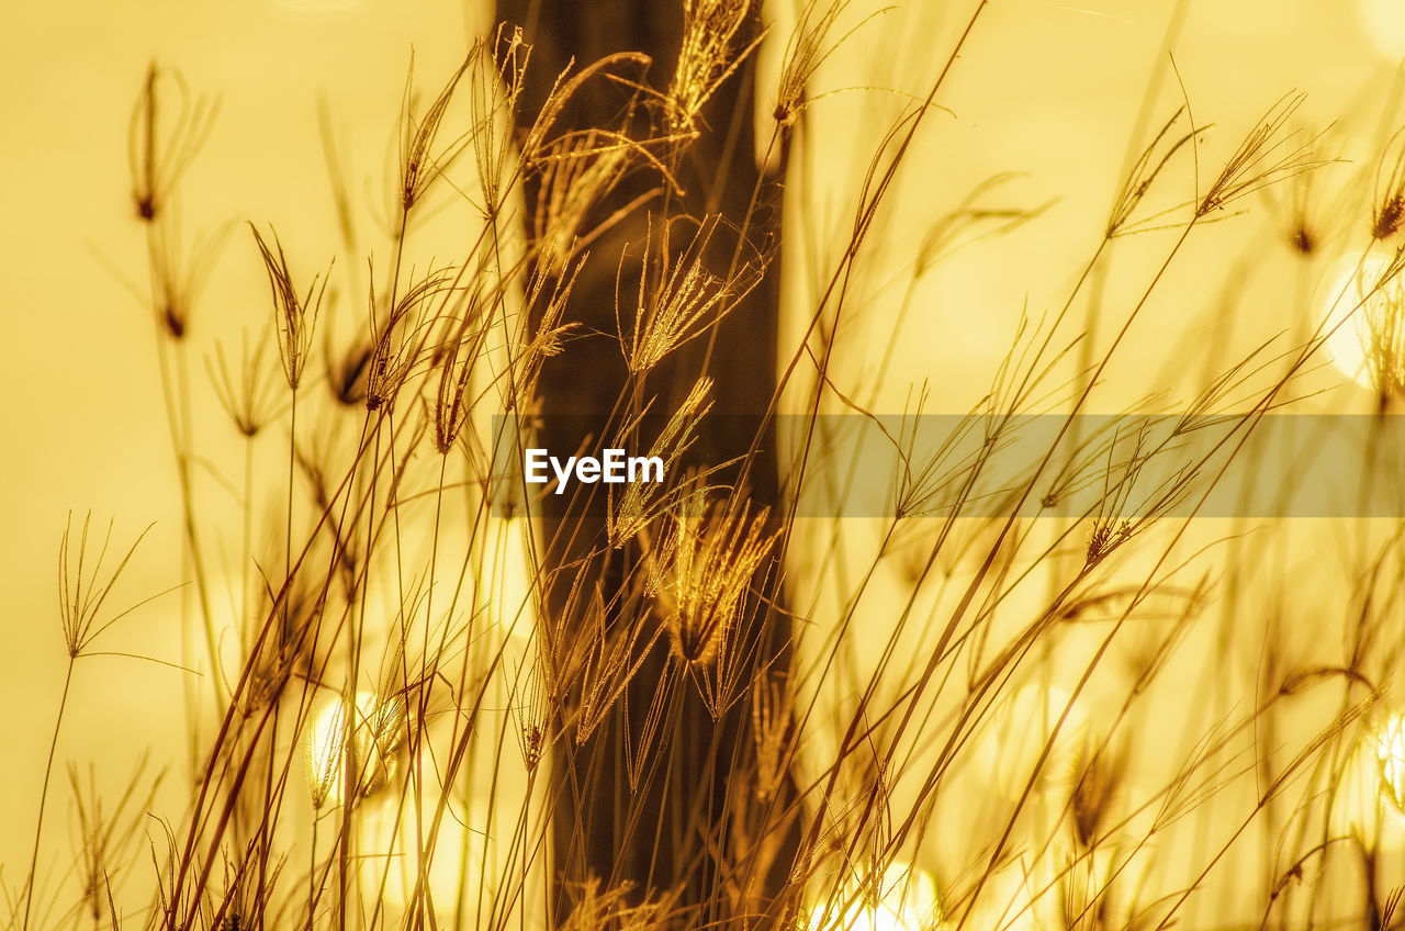
[[[548,6],[551,15],[590,17],[593,3]],[[795,7],[787,0],[766,4],[774,25],[760,51],[759,120],[771,111]],[[312,243],[337,240],[323,145],[330,138],[362,222],[384,228],[412,56],[416,75],[438,80],[486,32],[490,11],[437,0],[13,0],[6,14],[0,371],[10,397],[3,405],[10,443],[0,466],[8,529],[0,541],[7,593],[0,700],[8,710],[0,717],[0,862],[13,885],[32,842],[66,664],[55,585],[67,515],[81,519],[91,511],[101,529],[112,518],[118,546],[155,525],[115,603],[185,581],[153,322],[131,294],[133,283],[138,291],[145,287],[145,245],[128,193],[126,146],[146,68],[153,59],[176,68],[194,91],[219,100],[180,210],[187,238],[204,235],[214,243],[190,339],[204,353],[216,345],[237,352],[250,315],[263,312],[267,283],[246,231],[229,232],[232,225],[273,222],[289,257],[305,267],[323,263],[334,249]],[[816,283],[846,240],[874,143],[909,96],[924,94],[968,17],[968,6],[936,0],[844,7],[837,34],[853,32],[815,79],[798,167],[791,169],[783,353],[794,347]],[[1092,402],[1099,412],[1124,411],[1162,392],[1161,406],[1175,408],[1214,367],[1214,356],[1225,364],[1274,333],[1316,322],[1322,308],[1312,295],[1366,242],[1360,203],[1370,197],[1383,142],[1399,124],[1402,55],[1405,6],[1392,0],[993,0],[881,218],[881,248],[865,256],[858,281],[863,314],[837,332],[836,383],[871,391],[873,409],[898,413],[913,385],[926,381],[929,409],[965,411],[989,390],[1021,315],[1059,305],[1102,236],[1130,160],[1180,105],[1182,93],[1198,125],[1214,124],[1200,152],[1204,163],[1220,165],[1274,101],[1305,91],[1297,121],[1304,131],[1325,131],[1332,156],[1343,159],[1314,188],[1322,249],[1304,259],[1291,248],[1286,190],[1243,204],[1246,217],[1205,228],[1128,333]],[[1038,211],[1035,219],[971,243],[923,274],[902,311],[933,222],[995,176],[1002,180],[982,203]],[[1193,195],[1190,179],[1173,183],[1184,186],[1187,200]],[[450,238],[458,232],[438,229]],[[1135,297],[1165,242],[1148,233],[1118,249],[1125,262],[1107,274],[1104,311],[1089,318],[1094,353],[1121,326],[1128,295]],[[205,373],[191,375],[197,443],[211,463],[242,461],[242,440],[219,413]],[[1314,377],[1322,394],[1308,409],[1373,409],[1371,392],[1340,374],[1324,368]],[[277,442],[260,456],[270,457],[266,474],[277,475]],[[214,464],[197,482],[212,515],[215,558],[233,574],[237,489]],[[273,522],[270,533],[277,532]],[[1231,527],[1197,532],[1211,540]],[[853,540],[846,558],[865,565],[875,544],[871,527],[846,525],[843,533]],[[1286,558],[1316,557],[1318,574],[1301,582],[1304,603],[1336,605],[1349,572],[1335,572],[1333,557],[1350,534],[1325,525],[1294,533],[1297,556]],[[818,579],[806,581],[806,554],[795,558],[801,592],[806,584],[821,592]],[[1211,557],[1221,564],[1229,558]],[[887,586],[875,595],[880,603],[901,601],[899,578],[880,584]],[[183,662],[180,598],[159,598],[104,634],[100,650],[129,655],[84,660],[56,765],[93,761],[98,785],[118,792],[149,750],[152,766],[171,768],[169,782],[185,778],[183,674],[143,658]],[[1325,610],[1340,615],[1339,608]],[[1204,650],[1186,653],[1186,675],[1214,648],[1214,634],[1205,636]],[[1250,679],[1257,636],[1248,634]],[[1165,726],[1179,726],[1183,710],[1168,702]],[[49,810],[53,838],[73,830],[66,790],[51,792]]]

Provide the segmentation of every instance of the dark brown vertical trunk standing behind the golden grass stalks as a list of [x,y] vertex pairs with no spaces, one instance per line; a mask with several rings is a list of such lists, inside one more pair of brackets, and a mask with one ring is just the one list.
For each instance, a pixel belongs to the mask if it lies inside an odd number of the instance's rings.
[[[520,110],[524,122],[535,115],[558,75],[572,62],[579,70],[614,52],[643,52],[652,59],[642,75],[645,83],[655,90],[666,89],[684,27],[681,0],[497,0],[496,14],[499,21],[520,25],[531,45],[527,93]],[[749,34],[736,38],[733,55],[743,51],[759,30],[757,10],[753,8]],[[766,412],[776,390],[780,283],[780,177],[763,176],[757,169],[753,84],[749,56],[707,103],[698,136],[670,163],[681,193],[672,191],[666,201],[656,198],[635,210],[592,245],[590,259],[568,305],[568,319],[579,322],[580,332],[589,336],[572,340],[565,353],[551,359],[540,381],[544,415],[540,439],[547,449],[572,449],[579,429],[563,425],[579,428],[582,419],[600,425],[596,426],[599,436],[624,390],[627,373],[614,336],[617,277],[618,302],[622,305],[620,316],[628,322],[636,297],[638,256],[648,238],[649,211],[698,219],[719,214],[732,224],[719,226],[710,243],[707,264],[717,274],[725,274],[738,255],[738,228],[745,228],[745,239],[750,243],[743,257],[754,257],[759,250],[769,259],[760,285],[721,322],[710,354],[708,336],[702,335],[674,352],[648,377],[648,395],[658,397],[655,409],[660,412],[676,408],[704,374],[704,366],[705,374],[715,380],[714,416],[704,420],[693,450],[698,460],[717,463],[740,457],[752,446],[759,415]],[[631,113],[631,97],[639,100],[632,89],[622,84],[593,82],[570,101],[556,131],[618,128],[621,122],[638,122],[638,114],[622,115]],[[648,105],[649,96],[642,100]],[[655,113],[655,127],[658,121]],[[599,222],[658,184],[658,174],[649,176],[648,172],[627,177],[594,208],[592,217]],[[532,215],[535,194],[528,179],[527,217]],[[621,259],[627,243],[629,255]],[[769,429],[747,470],[746,492],[754,502],[771,505],[773,513],[778,511],[774,446]],[[563,520],[561,506],[565,498],[548,496],[545,502],[547,539]],[[570,520],[580,518],[572,515]],[[573,560],[584,556],[586,544],[601,539],[603,515],[592,513],[584,522],[575,544],[547,553],[545,572],[576,565]],[[606,572],[596,570],[599,563],[586,564],[587,572],[607,575],[587,579],[592,585],[603,585],[606,601],[621,584],[620,563],[620,558],[611,558],[607,563],[611,570]],[[563,609],[573,575],[575,571],[563,572],[563,581],[554,584],[547,593],[549,613]],[[773,571],[767,579],[757,579],[757,588],[767,585],[773,603],[759,606],[756,623],[762,626],[756,636],[760,646],[752,661],[753,668],[769,668],[773,675],[785,668],[790,636],[788,622],[774,609],[778,601],[776,577]],[[547,623],[559,623],[559,619],[556,613],[556,620]],[[620,710],[582,745],[577,747],[569,737],[556,744],[556,781],[566,789],[556,810],[556,875],[552,879],[580,882],[594,876],[611,885],[632,883],[641,893],[679,892],[680,904],[693,908],[693,920],[700,924],[733,924],[738,916],[725,914],[726,903],[715,893],[726,885],[719,880],[722,866],[718,851],[731,849],[735,844],[735,824],[731,821],[735,817],[735,796],[731,806],[724,802],[729,779],[733,773],[746,773],[754,761],[750,699],[743,695],[729,713],[714,721],[693,679],[674,668],[672,675],[679,693],[676,717],[663,723],[663,737],[656,745],[660,755],[658,765],[636,790],[631,790],[625,775],[625,741],[638,736],[643,726],[655,689],[667,675],[667,654],[669,644],[663,637],[649,651]],[[752,788],[733,785],[731,790],[747,793]],[[627,823],[627,810],[639,816],[634,824]],[[700,831],[698,824],[710,830]],[[764,899],[766,890],[774,886],[770,878],[784,875],[788,866],[787,856],[776,856],[763,871],[767,875],[752,878],[753,892]],[[735,885],[736,878],[728,882]],[[559,903],[561,897],[556,900]]]

